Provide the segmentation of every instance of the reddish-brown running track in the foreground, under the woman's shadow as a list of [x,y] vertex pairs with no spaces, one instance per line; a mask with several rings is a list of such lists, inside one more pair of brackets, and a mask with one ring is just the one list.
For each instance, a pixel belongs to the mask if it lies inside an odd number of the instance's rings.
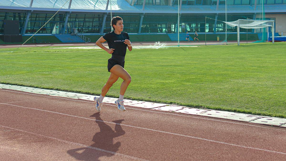
[[286,129],[0,89],[1,160],[285,160]]

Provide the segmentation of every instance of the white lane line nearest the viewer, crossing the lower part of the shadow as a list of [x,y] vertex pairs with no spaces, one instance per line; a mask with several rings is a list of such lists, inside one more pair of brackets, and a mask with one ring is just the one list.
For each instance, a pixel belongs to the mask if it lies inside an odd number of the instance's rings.
[[106,153],[110,153],[110,154],[114,154],[114,155],[124,156],[124,157],[135,159],[135,160],[144,160],[144,159],[136,158],[134,156],[129,156],[129,155],[116,153],[116,152],[112,152],[112,151],[108,151],[108,150],[104,150],[104,149],[100,149],[100,148],[95,148],[95,147],[92,147],[92,146],[87,146],[87,145],[80,144],[80,143],[70,142],[70,141],[67,141],[67,140],[62,140],[62,139],[58,139],[58,138],[54,138],[54,137],[50,137],[50,136],[45,136],[45,135],[41,135],[41,134],[37,134],[37,133],[25,131],[25,130],[15,129],[15,128],[8,127],[8,126],[3,126],[3,125],[0,125],[0,126],[8,128],[8,129],[13,129],[13,130],[25,132],[25,133],[30,133],[30,134],[37,135],[37,136],[42,136],[42,137],[53,139],[53,140],[57,140],[57,141],[60,141],[60,142],[65,142],[67,144],[75,144],[75,145],[78,145],[78,146],[83,146],[83,147],[86,147],[86,148],[90,148],[90,149],[94,149],[94,150],[98,150],[98,151],[101,151],[101,152],[106,152]]

